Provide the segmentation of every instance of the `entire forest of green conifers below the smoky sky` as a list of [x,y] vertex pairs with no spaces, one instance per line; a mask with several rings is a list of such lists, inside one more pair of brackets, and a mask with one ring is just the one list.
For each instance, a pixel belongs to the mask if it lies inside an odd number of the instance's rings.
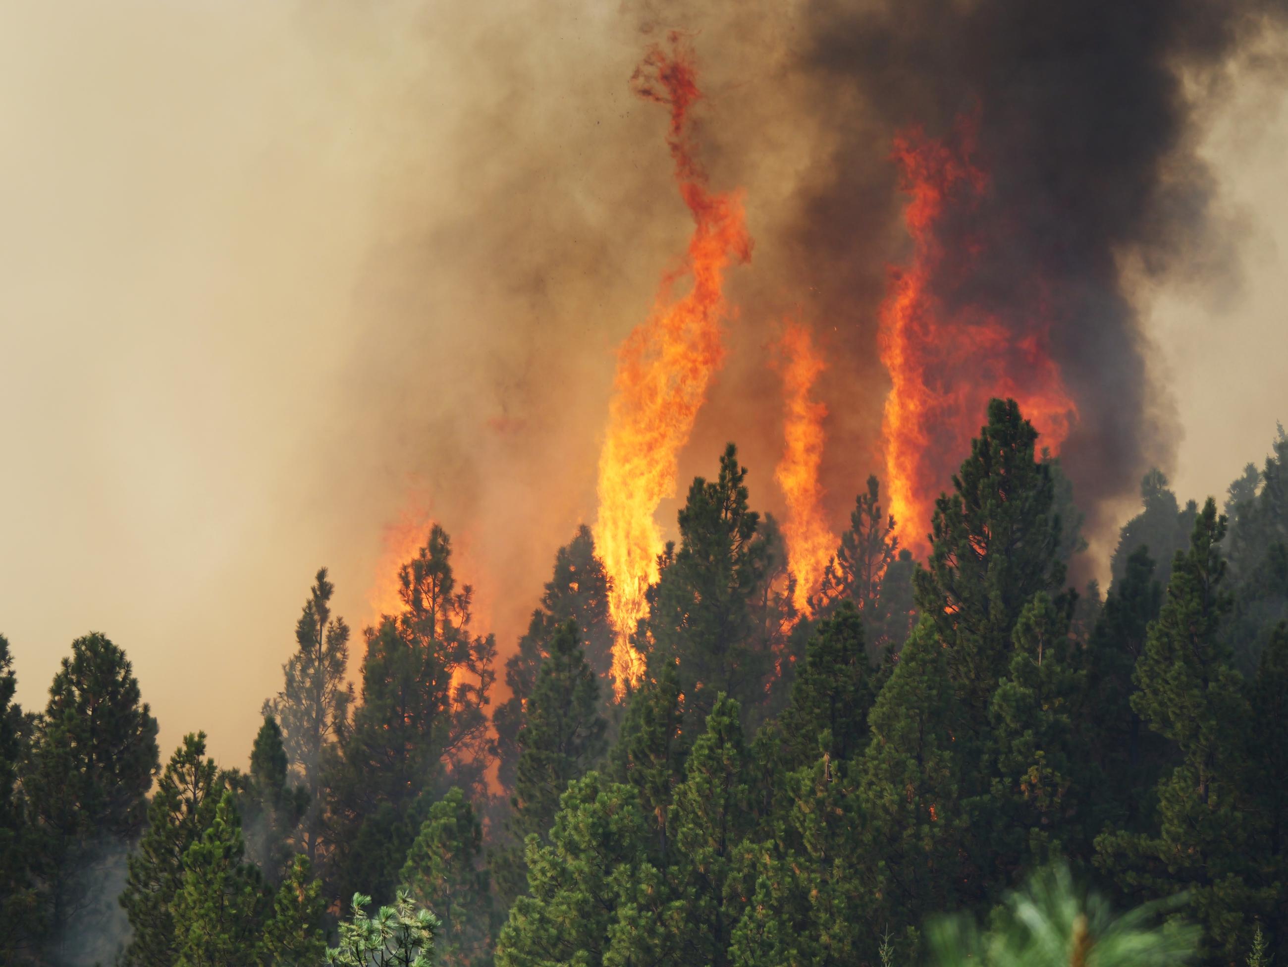
[[1074,591],[1075,494],[994,400],[929,559],[872,479],[805,615],[730,446],[620,702],[586,528],[497,670],[435,527],[352,650],[317,573],[245,773],[162,755],[102,634],[18,708],[0,637],[0,962],[1288,962],[1273,449],[1222,507],[1150,473]]

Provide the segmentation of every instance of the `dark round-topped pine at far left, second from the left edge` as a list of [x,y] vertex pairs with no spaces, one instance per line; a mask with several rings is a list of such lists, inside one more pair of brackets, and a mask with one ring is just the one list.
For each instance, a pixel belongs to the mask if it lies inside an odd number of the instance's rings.
[[125,653],[99,634],[73,641],[23,779],[48,923],[81,918],[97,904],[81,874],[106,846],[142,831],[158,767],[156,735]]

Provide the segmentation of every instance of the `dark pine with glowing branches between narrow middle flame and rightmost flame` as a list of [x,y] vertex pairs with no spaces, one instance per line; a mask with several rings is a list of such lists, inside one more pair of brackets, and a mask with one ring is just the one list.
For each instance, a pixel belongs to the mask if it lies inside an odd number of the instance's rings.
[[902,645],[914,623],[908,567],[912,555],[900,552],[894,525],[894,518],[881,509],[881,485],[869,476],[867,491],[855,498],[850,529],[841,534],[836,555],[810,599],[815,617],[827,617],[849,600],[863,618],[873,653]]

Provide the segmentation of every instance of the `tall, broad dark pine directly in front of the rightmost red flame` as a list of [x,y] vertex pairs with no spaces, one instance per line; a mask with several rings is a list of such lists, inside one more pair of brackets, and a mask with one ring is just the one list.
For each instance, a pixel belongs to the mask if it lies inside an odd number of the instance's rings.
[[987,730],[1023,608],[1039,591],[1064,588],[1064,532],[1052,514],[1051,467],[1033,456],[1037,438],[1015,400],[988,404],[988,424],[953,478],[953,493],[935,502],[930,560],[916,577],[917,609],[949,646],[948,672],[963,712],[960,739],[978,740]]

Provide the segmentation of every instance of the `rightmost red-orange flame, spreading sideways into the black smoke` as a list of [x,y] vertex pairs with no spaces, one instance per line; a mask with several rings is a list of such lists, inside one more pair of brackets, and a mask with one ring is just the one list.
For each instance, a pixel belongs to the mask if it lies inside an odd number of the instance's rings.
[[927,550],[935,494],[969,449],[989,398],[1014,398],[1052,453],[1077,420],[1047,349],[1050,323],[1041,304],[1029,306],[1028,331],[1018,336],[987,310],[948,309],[934,294],[936,279],[969,276],[979,251],[974,239],[949,246],[942,238],[944,215],[967,210],[988,187],[971,162],[976,127],[976,117],[961,118],[956,146],[929,140],[920,129],[894,143],[909,197],[904,223],[913,256],[891,270],[881,305],[878,345],[891,384],[882,438],[895,530],[900,545],[918,555]]

